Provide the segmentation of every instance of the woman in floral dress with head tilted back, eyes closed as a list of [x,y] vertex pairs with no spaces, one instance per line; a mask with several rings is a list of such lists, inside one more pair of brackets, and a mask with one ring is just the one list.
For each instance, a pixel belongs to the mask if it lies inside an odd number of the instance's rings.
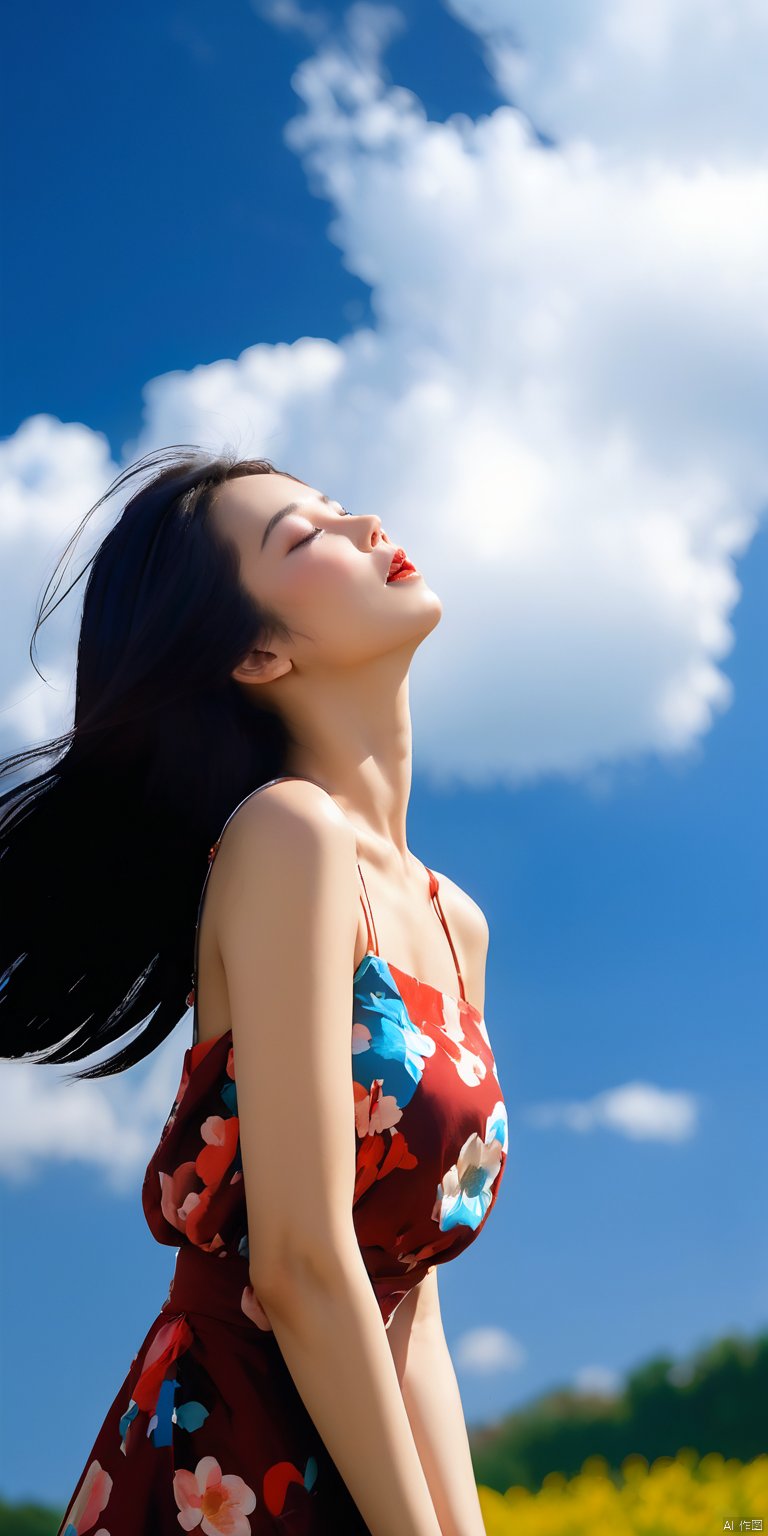
[[147,467],[92,558],[72,730],[0,799],[5,1055],[131,1031],[74,1075],[124,1071],[194,1008],[143,1184],[174,1279],[60,1536],[481,1536],[438,1267],[505,1166],[488,929],[406,837],[441,602],[267,459],[169,449],[111,492]]

